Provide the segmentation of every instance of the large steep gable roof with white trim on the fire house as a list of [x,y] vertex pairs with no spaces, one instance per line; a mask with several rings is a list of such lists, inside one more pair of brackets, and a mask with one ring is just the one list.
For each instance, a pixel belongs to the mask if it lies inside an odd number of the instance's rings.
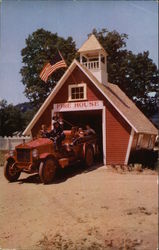
[[91,80],[96,88],[104,95],[104,97],[112,104],[112,106],[120,113],[120,115],[128,122],[128,124],[137,133],[158,134],[158,130],[148,120],[148,118],[136,107],[136,105],[126,96],[126,94],[115,84],[109,83],[108,86],[101,84],[97,78],[77,60],[74,60],[69,68],[66,70],[62,78],[59,80],[55,88],[42,104],[39,111],[33,117],[24,131],[24,135],[28,135],[41,116],[41,114],[48,107],[54,96],[63,86],[66,79],[70,76],[75,67],[79,67],[83,73]]

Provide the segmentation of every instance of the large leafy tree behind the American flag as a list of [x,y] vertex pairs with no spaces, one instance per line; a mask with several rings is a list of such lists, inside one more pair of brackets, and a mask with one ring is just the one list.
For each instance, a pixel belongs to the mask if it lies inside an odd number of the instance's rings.
[[22,49],[23,67],[20,70],[26,97],[38,108],[50,94],[66,69],[57,70],[47,83],[39,75],[45,63],[50,61],[57,49],[60,50],[69,66],[75,57],[76,45],[72,37],[64,39],[57,33],[38,29],[26,39],[26,47]]

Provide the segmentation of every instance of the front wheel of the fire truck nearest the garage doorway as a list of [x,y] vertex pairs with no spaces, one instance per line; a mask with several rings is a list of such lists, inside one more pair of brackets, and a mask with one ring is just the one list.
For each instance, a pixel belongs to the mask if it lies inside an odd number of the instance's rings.
[[56,173],[56,163],[53,159],[48,158],[40,163],[39,176],[44,184],[52,182]]

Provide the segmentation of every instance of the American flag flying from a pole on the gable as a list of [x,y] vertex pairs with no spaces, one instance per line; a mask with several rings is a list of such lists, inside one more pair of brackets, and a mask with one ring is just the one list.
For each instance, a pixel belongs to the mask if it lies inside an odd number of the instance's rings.
[[52,58],[50,62],[48,62],[40,73],[40,78],[44,82],[47,82],[48,77],[57,69],[67,67],[61,53],[59,51],[56,52],[55,56]]

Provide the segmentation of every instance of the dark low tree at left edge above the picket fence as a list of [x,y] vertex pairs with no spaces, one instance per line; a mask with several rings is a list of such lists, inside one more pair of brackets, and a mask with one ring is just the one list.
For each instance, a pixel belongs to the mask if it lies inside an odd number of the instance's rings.
[[12,136],[22,131],[24,122],[21,111],[6,100],[0,101],[0,136]]

